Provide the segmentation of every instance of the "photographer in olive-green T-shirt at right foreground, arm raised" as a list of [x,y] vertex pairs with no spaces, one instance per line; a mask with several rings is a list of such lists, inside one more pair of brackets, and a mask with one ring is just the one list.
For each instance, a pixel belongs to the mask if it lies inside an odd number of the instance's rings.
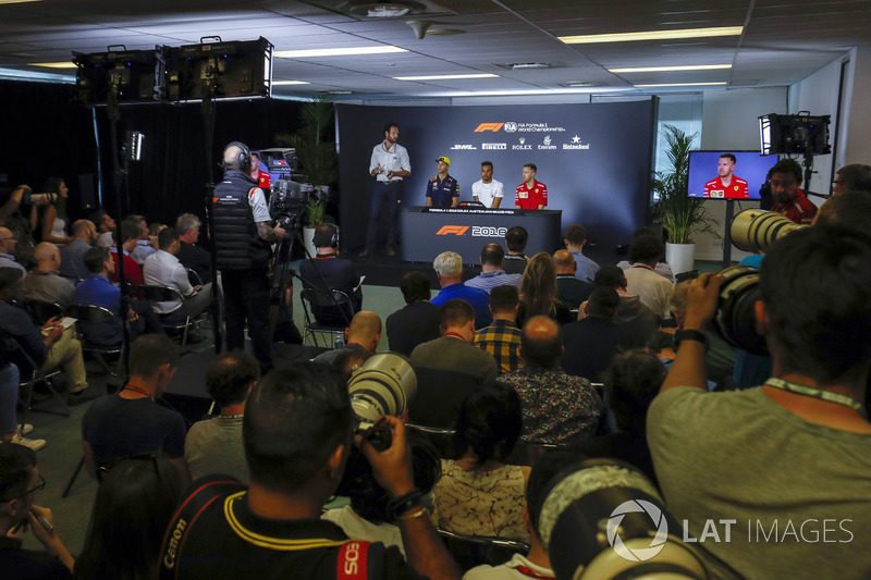
[[871,577],[871,423],[859,403],[871,363],[869,264],[861,232],[817,226],[778,239],[755,304],[773,377],[739,392],[706,386],[702,331],[724,277],[691,283],[648,442],[684,534],[745,578]]

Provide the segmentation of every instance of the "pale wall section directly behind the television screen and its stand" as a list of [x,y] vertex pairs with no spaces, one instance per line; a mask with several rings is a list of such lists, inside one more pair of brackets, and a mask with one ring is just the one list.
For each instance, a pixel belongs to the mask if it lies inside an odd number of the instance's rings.
[[[701,149],[759,150],[759,115],[786,112],[786,87],[740,88],[702,95]],[[735,213],[758,207],[758,201],[736,202]],[[722,260],[726,239],[726,203],[707,201],[706,209],[720,222],[716,227],[720,238],[708,234],[696,236],[696,259]],[[747,254],[732,248],[733,260],[740,260],[745,256]]]

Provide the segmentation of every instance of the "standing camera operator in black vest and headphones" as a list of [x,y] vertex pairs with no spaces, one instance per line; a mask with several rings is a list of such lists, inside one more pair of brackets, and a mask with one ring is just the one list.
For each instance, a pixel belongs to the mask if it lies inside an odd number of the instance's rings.
[[224,291],[226,347],[244,348],[245,320],[254,355],[263,371],[272,368],[269,336],[271,245],[284,237],[271,218],[263,192],[252,180],[248,148],[233,141],[223,155],[224,180],[214,187],[214,251]]

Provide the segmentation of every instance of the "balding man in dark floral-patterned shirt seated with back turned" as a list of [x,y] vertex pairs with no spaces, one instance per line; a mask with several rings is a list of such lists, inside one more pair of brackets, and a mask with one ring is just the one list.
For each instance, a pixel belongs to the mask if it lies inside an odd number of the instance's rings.
[[565,445],[592,435],[599,424],[599,394],[588,380],[560,368],[562,353],[560,326],[548,317],[533,317],[520,335],[525,367],[496,379],[520,396],[525,443]]

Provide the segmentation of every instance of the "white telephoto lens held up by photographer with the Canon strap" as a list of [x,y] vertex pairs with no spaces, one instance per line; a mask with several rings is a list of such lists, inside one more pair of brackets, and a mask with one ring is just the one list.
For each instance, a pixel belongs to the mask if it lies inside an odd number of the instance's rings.
[[408,409],[417,393],[417,375],[404,356],[381,353],[352,373],[347,391],[357,418],[355,433],[383,451],[390,447],[390,429],[373,428],[381,417],[400,417]]

